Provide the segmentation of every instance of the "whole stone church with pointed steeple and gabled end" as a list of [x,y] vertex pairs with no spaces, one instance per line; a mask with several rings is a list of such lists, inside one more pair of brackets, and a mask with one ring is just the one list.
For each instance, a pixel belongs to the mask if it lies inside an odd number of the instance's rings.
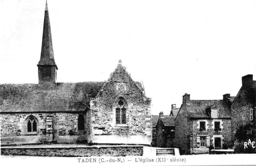
[[0,84],[1,144],[147,144],[151,99],[122,61],[105,82],[58,83],[47,3],[38,84]]

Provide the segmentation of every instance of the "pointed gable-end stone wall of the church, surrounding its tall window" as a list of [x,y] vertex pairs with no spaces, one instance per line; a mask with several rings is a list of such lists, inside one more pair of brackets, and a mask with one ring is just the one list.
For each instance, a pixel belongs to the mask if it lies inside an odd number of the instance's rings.
[[[120,97],[126,103],[126,124],[116,124],[116,103]],[[93,143],[151,144],[151,99],[145,97],[121,65],[96,98],[91,98],[90,106]]]

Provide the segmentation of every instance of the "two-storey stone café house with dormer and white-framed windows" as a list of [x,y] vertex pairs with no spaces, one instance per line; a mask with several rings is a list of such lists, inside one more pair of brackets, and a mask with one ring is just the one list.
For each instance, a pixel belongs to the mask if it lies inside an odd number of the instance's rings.
[[222,100],[190,100],[183,95],[175,119],[176,148],[180,154],[209,153],[209,148],[232,147],[231,103],[234,97],[223,95]]

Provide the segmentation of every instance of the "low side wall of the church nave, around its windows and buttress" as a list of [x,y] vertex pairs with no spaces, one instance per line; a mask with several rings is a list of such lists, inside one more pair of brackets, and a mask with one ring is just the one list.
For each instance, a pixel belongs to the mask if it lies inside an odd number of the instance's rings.
[[[1,143],[37,143],[46,138],[46,117],[53,116],[54,140],[57,142],[83,142],[87,140],[87,130],[77,130],[77,119],[81,113],[2,113]],[[36,118],[36,132],[28,132],[26,119]],[[84,115],[85,117],[86,115]],[[88,118],[86,118],[88,119]],[[85,123],[88,123],[88,120]],[[86,128],[86,127],[85,127]]]

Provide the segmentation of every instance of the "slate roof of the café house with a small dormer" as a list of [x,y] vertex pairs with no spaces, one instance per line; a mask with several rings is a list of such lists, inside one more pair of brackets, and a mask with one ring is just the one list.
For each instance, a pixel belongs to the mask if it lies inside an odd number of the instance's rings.
[[219,108],[219,118],[231,118],[231,102],[232,100],[188,100],[185,107],[190,118],[210,118],[207,108]]

